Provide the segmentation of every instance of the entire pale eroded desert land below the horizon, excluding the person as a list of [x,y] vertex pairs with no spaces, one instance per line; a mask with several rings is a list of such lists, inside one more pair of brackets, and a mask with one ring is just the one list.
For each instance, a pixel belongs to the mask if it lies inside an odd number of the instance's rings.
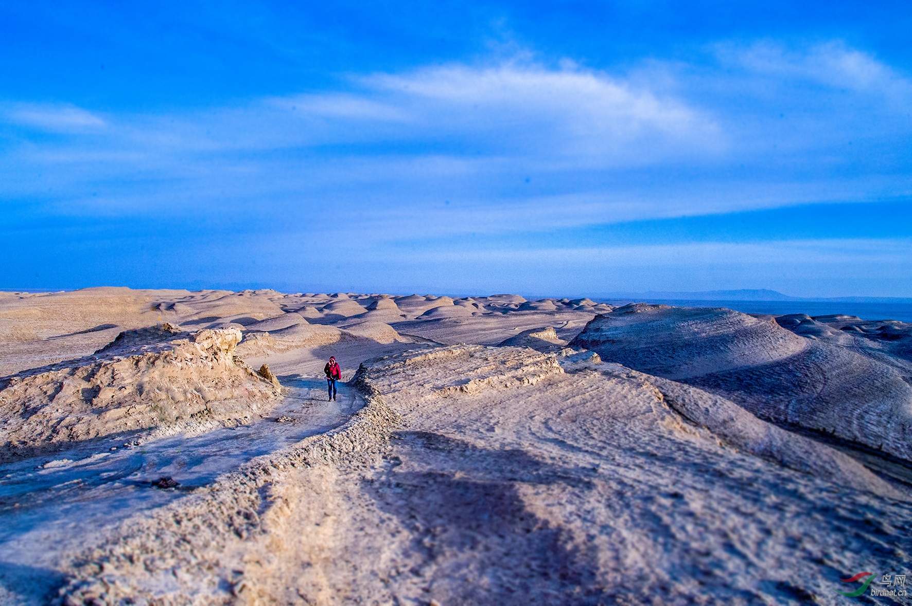
[[0,377],[0,603],[837,604],[912,568],[889,319],[0,293]]

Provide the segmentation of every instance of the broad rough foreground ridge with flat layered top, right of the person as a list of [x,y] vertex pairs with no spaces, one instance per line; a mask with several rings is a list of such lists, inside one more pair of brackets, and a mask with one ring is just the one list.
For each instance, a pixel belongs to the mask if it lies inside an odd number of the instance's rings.
[[842,603],[907,565],[906,500],[748,454],[620,365],[461,345],[354,383],[346,426],[125,525],[67,601]]

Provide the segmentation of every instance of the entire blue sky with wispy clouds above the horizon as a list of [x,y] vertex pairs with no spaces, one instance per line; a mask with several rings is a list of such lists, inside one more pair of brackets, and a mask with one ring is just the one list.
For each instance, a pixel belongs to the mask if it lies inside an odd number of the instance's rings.
[[0,5],[0,287],[912,296],[912,7],[292,4]]

